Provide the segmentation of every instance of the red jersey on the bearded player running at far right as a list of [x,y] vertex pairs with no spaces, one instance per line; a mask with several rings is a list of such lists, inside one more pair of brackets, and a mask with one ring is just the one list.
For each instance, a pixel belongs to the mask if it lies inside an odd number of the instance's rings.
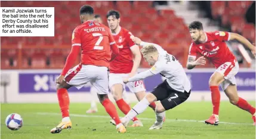
[[228,61],[234,62],[235,55],[229,50],[226,42],[229,41],[229,32],[205,32],[206,41],[196,44],[192,41],[189,48],[189,55],[195,56],[201,54],[208,58],[217,69],[221,64]]

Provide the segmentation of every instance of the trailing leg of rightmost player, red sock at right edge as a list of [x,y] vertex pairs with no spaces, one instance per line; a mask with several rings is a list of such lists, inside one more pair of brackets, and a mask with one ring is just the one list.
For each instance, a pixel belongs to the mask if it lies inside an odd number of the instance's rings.
[[230,84],[226,89],[224,89],[224,92],[227,97],[229,97],[230,103],[238,106],[242,110],[246,110],[247,112],[251,113],[252,120],[255,125],[255,107],[252,107],[246,100],[238,96],[236,85]]

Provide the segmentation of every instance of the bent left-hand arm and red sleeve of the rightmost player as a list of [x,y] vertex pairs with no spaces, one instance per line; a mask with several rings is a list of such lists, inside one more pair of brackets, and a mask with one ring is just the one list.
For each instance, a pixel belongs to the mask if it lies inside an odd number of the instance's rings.
[[187,57],[187,69],[193,69],[195,66],[198,65],[205,65],[205,57],[199,57],[196,60],[196,48],[193,47],[193,44],[189,47],[189,56]]

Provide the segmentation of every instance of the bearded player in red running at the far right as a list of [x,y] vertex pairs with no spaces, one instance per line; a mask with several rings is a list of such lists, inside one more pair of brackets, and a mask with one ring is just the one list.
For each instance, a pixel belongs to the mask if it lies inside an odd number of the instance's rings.
[[[217,70],[209,79],[209,88],[211,90],[213,113],[212,116],[205,121],[207,124],[218,125],[219,108],[220,108],[220,90],[221,88],[229,97],[230,103],[238,106],[240,109],[246,110],[252,115],[255,124],[255,108],[246,100],[238,96],[236,88],[235,75],[238,73],[239,64],[236,57],[232,54],[226,45],[226,42],[237,39],[243,45],[248,47],[255,56],[255,47],[247,39],[236,33],[230,32],[203,32],[203,26],[200,21],[193,21],[189,25],[192,44],[189,48],[189,57],[187,61],[187,69],[193,69],[198,65],[205,65],[205,58],[208,58]],[[196,60],[197,54],[203,55]]]

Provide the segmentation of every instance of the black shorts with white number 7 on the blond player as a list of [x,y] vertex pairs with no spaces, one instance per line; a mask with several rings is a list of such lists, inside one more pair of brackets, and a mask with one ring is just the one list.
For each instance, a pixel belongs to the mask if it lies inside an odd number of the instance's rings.
[[169,110],[186,101],[187,98],[189,98],[190,91],[177,91],[171,88],[168,82],[165,80],[152,91],[152,94],[161,101],[165,110]]

